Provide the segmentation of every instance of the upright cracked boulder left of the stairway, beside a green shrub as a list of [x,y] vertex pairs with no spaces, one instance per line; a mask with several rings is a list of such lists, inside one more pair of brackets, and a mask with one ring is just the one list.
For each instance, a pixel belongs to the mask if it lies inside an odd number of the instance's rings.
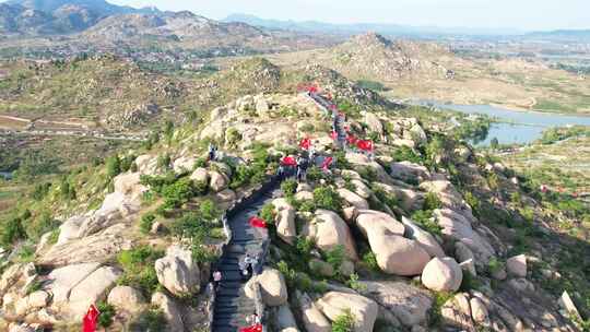
[[190,250],[173,245],[166,256],[155,261],[157,281],[176,296],[199,292],[201,278],[197,262]]

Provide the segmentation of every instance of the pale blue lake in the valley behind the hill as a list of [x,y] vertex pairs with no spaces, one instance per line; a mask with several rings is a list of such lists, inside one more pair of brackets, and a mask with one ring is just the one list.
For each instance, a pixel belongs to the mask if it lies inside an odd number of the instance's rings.
[[421,104],[465,114],[487,115],[500,121],[492,123],[487,138],[483,142],[479,142],[477,145],[489,145],[494,138],[497,138],[500,144],[527,144],[540,139],[547,128],[573,124],[590,126],[590,117],[518,111],[489,105],[455,105],[433,102],[421,102]]

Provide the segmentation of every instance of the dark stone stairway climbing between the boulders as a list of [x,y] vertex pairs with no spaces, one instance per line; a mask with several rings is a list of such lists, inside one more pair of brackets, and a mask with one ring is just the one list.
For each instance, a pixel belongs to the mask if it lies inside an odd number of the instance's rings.
[[281,190],[276,183],[227,221],[232,229],[232,240],[217,262],[222,282],[215,293],[213,332],[237,332],[240,328],[250,325],[246,319],[256,312],[256,306],[255,301],[245,294],[247,281],[241,280],[238,262],[246,253],[252,257],[262,253],[268,232],[251,227],[249,218],[257,216],[264,204],[270,203],[280,194]]

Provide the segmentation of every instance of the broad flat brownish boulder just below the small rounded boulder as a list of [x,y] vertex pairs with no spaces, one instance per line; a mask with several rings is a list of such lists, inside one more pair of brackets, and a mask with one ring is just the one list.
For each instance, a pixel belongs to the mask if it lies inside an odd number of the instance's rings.
[[404,282],[361,282],[361,293],[391,312],[403,325],[426,322],[433,298],[428,292]]

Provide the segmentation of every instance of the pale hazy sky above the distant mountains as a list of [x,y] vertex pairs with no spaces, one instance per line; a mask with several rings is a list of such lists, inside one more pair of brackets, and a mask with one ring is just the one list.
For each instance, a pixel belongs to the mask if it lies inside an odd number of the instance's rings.
[[190,10],[211,19],[231,13],[263,19],[334,23],[512,27],[519,29],[590,28],[589,0],[107,0],[161,10]]

